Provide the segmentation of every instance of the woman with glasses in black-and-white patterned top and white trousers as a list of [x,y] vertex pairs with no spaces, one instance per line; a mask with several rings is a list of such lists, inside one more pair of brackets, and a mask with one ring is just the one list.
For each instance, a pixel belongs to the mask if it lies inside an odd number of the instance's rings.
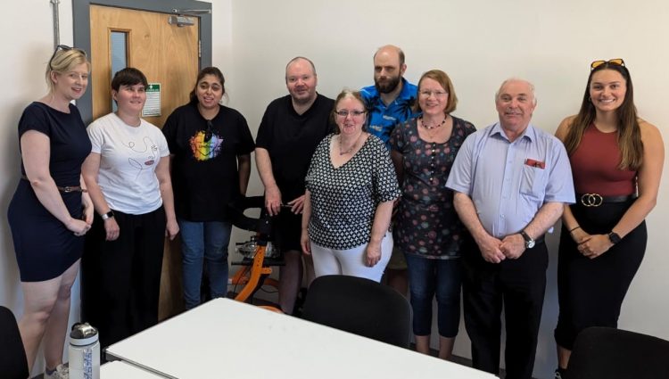
[[301,247],[316,276],[349,275],[381,280],[390,260],[392,203],[401,195],[384,143],[363,130],[359,92],[335,101],[337,133],[314,152],[306,181]]

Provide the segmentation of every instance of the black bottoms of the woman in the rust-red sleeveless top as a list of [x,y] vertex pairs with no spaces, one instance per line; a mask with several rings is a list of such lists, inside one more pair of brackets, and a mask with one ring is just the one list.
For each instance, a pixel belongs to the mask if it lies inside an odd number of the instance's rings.
[[[632,203],[604,203],[599,207],[577,203],[570,208],[584,231],[598,235],[610,232]],[[569,232],[562,228],[558,254],[560,313],[555,329],[558,345],[572,350],[576,336],[583,329],[617,327],[625,294],[641,265],[647,240],[644,221],[620,243],[591,260],[578,251]]]

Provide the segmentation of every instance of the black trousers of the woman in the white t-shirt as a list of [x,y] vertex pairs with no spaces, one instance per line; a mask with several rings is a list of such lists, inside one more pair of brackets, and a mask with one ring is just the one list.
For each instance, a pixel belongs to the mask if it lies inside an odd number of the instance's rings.
[[81,259],[82,321],[98,329],[103,348],[158,323],[165,210],[130,215],[114,210],[120,234],[105,241],[95,215]]

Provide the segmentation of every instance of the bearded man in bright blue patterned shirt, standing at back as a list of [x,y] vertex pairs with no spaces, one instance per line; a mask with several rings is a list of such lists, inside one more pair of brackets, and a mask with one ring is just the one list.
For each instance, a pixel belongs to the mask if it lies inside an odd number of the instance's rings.
[[[374,86],[360,90],[369,114],[368,132],[381,138],[388,150],[388,139],[395,125],[417,116],[413,111],[417,87],[403,78],[406,70],[401,48],[393,45],[380,47],[374,54]],[[385,280],[392,288],[407,295],[407,261],[397,249],[392,251],[385,268]]]

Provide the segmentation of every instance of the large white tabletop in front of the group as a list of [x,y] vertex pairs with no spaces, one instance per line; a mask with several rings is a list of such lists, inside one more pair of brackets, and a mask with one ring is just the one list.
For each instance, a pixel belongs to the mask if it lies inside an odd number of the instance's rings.
[[107,354],[178,379],[495,377],[229,299],[172,317]]

